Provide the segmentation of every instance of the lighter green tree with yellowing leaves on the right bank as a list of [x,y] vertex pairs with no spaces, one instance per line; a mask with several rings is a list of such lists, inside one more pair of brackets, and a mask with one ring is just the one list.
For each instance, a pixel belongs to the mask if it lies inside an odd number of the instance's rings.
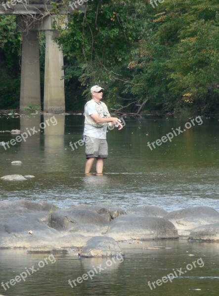
[[218,112],[218,1],[166,0],[158,9],[131,63],[144,85],[131,92],[167,111]]

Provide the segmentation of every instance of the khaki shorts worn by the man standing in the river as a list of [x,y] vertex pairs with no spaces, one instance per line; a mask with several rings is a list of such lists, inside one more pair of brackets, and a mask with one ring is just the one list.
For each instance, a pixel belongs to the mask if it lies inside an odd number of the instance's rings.
[[108,144],[104,139],[96,139],[84,136],[86,158],[107,158],[108,157]]

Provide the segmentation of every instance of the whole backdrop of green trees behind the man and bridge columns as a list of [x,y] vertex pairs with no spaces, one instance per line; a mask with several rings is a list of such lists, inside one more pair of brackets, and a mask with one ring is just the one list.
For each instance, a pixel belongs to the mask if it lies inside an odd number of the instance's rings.
[[[53,12],[70,0],[50,1]],[[219,113],[219,2],[88,0],[68,14],[57,39],[64,54],[66,110],[83,111],[89,88],[105,88],[112,110]],[[80,6],[79,6],[80,7]],[[19,103],[21,35],[0,16],[0,108]],[[41,34],[41,83],[45,37]],[[43,97],[43,95],[42,95]],[[123,108],[127,106],[126,108]]]

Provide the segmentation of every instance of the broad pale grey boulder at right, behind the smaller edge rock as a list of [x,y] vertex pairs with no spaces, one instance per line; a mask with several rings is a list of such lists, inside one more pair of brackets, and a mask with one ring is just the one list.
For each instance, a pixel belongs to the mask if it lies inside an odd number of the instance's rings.
[[219,222],[219,212],[211,207],[201,206],[176,210],[164,216],[178,229],[179,235],[189,235],[191,230],[200,225]]

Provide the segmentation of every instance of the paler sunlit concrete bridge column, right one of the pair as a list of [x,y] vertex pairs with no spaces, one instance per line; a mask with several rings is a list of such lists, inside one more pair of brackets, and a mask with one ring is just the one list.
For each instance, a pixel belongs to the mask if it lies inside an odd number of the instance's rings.
[[44,111],[51,113],[65,112],[65,91],[63,53],[54,42],[54,32],[45,31],[45,76],[44,76]]

